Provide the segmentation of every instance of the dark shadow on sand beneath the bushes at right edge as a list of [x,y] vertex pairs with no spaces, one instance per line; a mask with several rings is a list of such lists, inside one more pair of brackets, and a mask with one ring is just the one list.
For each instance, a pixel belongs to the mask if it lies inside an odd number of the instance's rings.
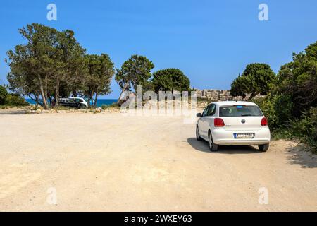
[[306,145],[299,143],[294,147],[289,147],[287,150],[287,162],[290,164],[301,165],[303,168],[316,168],[317,155],[311,153]]

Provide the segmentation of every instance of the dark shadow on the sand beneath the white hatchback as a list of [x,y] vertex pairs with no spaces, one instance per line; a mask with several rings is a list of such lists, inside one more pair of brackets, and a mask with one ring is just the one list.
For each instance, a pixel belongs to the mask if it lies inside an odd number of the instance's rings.
[[219,145],[217,152],[211,152],[207,141],[197,141],[196,138],[187,138],[187,143],[192,148],[204,153],[218,153],[218,154],[260,154],[257,148],[251,145]]

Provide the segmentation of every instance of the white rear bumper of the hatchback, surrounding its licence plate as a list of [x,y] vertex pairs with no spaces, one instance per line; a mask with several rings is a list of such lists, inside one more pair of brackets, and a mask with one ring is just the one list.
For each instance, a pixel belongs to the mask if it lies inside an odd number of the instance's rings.
[[[261,145],[270,143],[271,133],[268,126],[263,126],[259,130],[248,131],[228,131],[223,128],[213,129],[211,132],[213,143],[218,145]],[[236,139],[233,133],[255,133],[254,138]]]

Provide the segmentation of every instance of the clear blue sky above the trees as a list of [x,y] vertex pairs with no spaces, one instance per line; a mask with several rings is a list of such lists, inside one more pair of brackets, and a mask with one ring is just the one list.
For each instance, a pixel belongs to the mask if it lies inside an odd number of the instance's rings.
[[[46,6],[57,6],[57,21]],[[268,21],[258,19],[261,3]],[[280,66],[317,41],[317,1],[2,1],[0,8],[0,84],[9,71],[6,51],[24,40],[18,28],[43,23],[75,31],[89,54],[107,53],[120,67],[132,54],[154,62],[154,71],[179,68],[194,88],[229,89],[245,66]],[[115,81],[113,93],[120,90]]]

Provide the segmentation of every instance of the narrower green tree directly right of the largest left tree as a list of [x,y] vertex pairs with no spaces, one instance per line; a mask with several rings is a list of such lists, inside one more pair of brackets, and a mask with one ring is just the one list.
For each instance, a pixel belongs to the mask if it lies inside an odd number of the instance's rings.
[[111,79],[115,73],[113,62],[107,54],[93,54],[86,56],[86,63],[88,75],[85,94],[89,106],[94,96],[94,107],[96,107],[98,95],[111,93]]

